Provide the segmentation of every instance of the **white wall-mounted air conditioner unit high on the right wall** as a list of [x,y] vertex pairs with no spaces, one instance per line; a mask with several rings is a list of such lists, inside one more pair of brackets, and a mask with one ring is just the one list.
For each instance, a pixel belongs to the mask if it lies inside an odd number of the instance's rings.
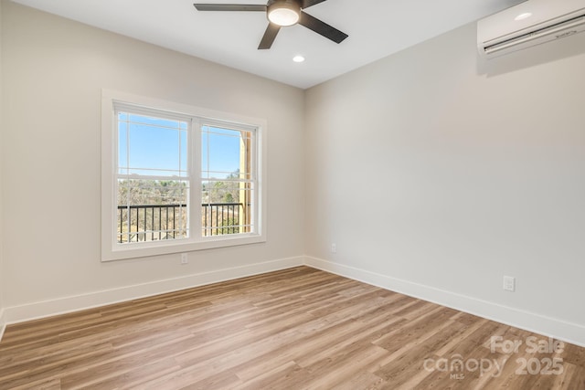
[[585,31],[585,0],[528,0],[477,22],[477,47],[493,58]]

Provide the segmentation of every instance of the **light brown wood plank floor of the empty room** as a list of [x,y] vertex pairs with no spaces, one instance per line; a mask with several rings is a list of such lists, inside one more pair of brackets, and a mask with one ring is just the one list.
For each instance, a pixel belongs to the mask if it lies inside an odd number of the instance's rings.
[[[492,336],[523,344],[492,351]],[[584,348],[531,353],[537,343],[548,339],[300,267],[10,325],[0,388],[585,389]]]

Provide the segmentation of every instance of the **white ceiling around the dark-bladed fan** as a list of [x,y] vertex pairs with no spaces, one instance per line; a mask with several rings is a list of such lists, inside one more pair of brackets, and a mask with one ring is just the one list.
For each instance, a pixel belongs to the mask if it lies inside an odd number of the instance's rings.
[[[523,0],[328,0],[305,11],[348,34],[344,42],[291,26],[270,50],[257,49],[264,13],[193,6],[265,0],[13,1],[305,89]],[[297,54],[306,60],[293,62]]]

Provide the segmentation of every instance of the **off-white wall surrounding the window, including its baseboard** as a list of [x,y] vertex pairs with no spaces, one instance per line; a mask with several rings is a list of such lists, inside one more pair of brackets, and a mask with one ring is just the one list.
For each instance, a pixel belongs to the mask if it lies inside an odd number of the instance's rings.
[[[3,5],[8,321],[303,261],[303,90]],[[268,242],[101,263],[102,88],[266,119]]]

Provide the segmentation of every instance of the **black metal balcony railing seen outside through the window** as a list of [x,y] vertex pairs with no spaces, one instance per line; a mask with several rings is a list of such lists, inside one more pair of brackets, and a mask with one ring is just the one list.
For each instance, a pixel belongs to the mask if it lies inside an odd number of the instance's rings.
[[[249,231],[242,225],[244,205],[212,203],[201,205],[203,236]],[[118,206],[118,242],[139,242],[186,237],[186,205]]]

